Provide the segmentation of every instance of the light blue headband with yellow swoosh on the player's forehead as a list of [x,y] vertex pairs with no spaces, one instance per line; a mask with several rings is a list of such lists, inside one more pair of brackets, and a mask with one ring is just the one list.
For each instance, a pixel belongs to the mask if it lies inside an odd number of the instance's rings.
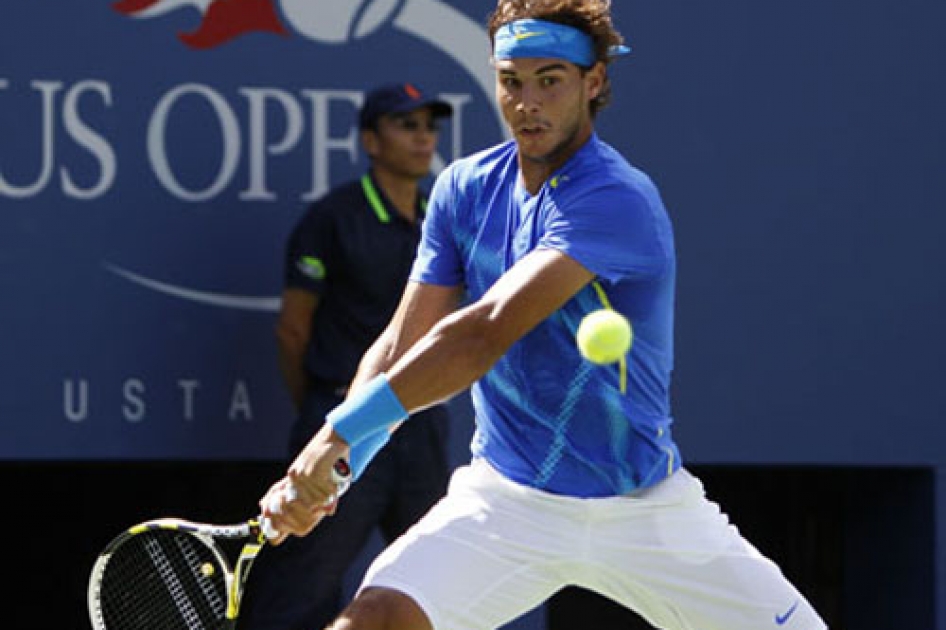
[[[629,52],[627,46],[612,46],[608,54],[616,57]],[[499,27],[493,38],[493,57],[564,59],[586,68],[596,60],[594,43],[588,35],[571,26],[531,18]]]

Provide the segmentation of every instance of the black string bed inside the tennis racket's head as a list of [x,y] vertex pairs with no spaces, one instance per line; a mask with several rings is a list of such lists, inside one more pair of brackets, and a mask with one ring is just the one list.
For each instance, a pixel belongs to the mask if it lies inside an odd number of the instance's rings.
[[226,568],[196,537],[147,531],[114,550],[101,585],[108,630],[212,630],[227,626]]

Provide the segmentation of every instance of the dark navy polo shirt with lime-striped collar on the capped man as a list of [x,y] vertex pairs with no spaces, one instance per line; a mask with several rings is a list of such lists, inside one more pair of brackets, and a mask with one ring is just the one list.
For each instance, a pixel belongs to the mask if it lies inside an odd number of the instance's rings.
[[287,288],[319,296],[305,367],[313,379],[347,385],[362,354],[391,320],[407,283],[418,221],[394,209],[370,174],[313,203],[286,247]]

